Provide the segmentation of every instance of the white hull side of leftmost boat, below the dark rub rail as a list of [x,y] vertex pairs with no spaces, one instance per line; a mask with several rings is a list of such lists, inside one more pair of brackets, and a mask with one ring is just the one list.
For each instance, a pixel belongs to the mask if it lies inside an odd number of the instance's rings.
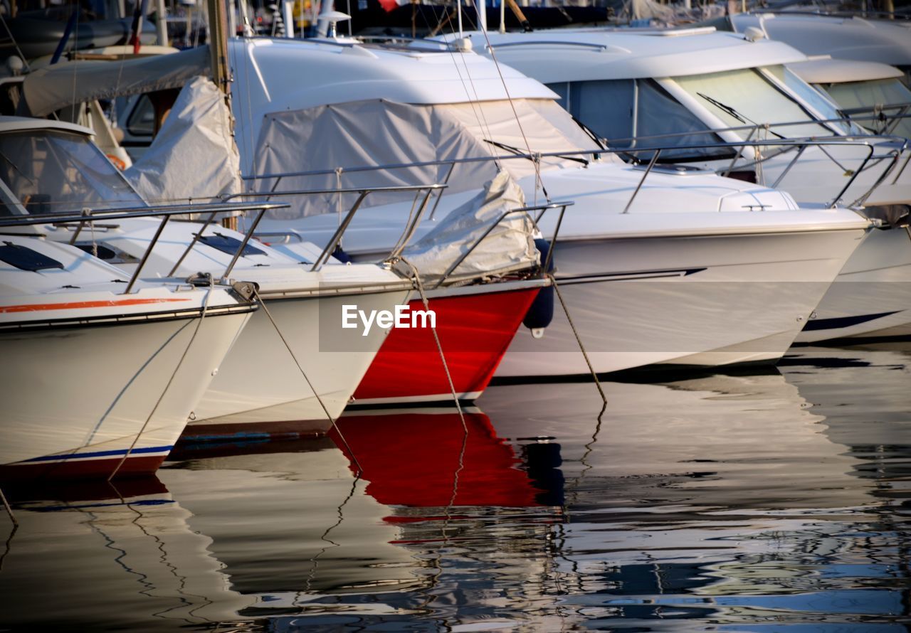
[[0,334],[0,464],[109,475],[129,453],[123,472],[154,471],[249,317],[212,311],[198,332],[189,316]]

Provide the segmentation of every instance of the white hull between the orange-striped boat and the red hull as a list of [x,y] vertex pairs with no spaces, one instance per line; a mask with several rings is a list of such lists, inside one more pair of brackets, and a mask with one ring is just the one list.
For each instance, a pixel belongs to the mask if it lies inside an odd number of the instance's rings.
[[333,419],[342,413],[387,333],[375,327],[365,337],[342,331],[342,305],[391,311],[405,303],[408,294],[402,289],[356,296],[263,297],[294,357],[265,310],[254,314],[194,409],[186,434],[325,431],[331,424],[327,412]]

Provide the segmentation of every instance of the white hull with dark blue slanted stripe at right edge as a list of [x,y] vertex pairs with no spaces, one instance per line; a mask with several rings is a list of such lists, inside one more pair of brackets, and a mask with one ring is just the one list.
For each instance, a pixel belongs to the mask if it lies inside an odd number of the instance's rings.
[[819,342],[911,334],[911,234],[875,230],[855,250],[797,337]]

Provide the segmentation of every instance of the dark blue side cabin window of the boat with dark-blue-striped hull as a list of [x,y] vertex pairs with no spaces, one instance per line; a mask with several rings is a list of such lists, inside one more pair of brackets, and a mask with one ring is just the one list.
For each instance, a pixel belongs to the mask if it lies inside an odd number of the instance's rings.
[[[603,79],[548,85],[569,113],[611,148],[655,148],[722,143],[722,138],[651,79]],[[650,138],[651,137],[651,138]],[[649,160],[652,152],[630,158]],[[732,157],[730,148],[663,149],[660,162]]]

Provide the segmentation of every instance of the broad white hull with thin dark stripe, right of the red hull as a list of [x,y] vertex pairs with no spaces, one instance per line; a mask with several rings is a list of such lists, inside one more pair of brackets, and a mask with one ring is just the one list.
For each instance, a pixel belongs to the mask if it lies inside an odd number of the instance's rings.
[[[807,230],[564,241],[557,280],[598,373],[771,362],[791,345],[863,235]],[[520,329],[496,375],[588,371],[557,304],[543,338]]]

